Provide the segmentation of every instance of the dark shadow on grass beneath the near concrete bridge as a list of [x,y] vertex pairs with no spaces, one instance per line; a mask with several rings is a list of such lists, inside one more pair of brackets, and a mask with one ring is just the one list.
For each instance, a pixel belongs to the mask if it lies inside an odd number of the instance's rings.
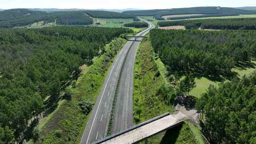
[[164,137],[162,138],[160,144],[175,144],[177,138],[180,135],[180,131],[183,125],[176,126],[165,132]]

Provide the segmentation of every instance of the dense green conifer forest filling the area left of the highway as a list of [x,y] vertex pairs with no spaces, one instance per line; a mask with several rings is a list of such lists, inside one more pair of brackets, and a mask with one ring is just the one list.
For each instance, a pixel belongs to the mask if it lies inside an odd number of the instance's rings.
[[104,54],[124,28],[45,27],[0,29],[0,144],[31,136],[41,113],[68,93],[79,66]]

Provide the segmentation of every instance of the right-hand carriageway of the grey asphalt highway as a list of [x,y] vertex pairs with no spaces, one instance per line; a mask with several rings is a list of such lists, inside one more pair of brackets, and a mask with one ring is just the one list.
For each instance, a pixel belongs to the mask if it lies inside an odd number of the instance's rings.
[[[149,27],[154,28],[154,25],[149,23]],[[137,34],[137,36],[145,36],[149,30]],[[141,40],[142,38],[137,38]],[[130,48],[127,58],[124,62],[121,80],[119,84],[119,91],[115,106],[112,134],[118,133],[133,126],[133,71],[137,48],[140,42],[134,42]]]

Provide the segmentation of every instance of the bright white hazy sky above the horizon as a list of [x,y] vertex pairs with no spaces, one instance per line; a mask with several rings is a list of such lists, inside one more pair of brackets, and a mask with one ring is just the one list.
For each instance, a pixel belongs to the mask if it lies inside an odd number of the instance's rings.
[[197,6],[256,6],[256,0],[0,0],[0,9],[167,9]]

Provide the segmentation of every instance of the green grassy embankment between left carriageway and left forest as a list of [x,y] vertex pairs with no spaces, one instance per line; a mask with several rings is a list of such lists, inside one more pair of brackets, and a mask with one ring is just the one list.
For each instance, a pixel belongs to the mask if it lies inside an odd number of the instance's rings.
[[106,45],[106,53],[94,58],[93,64],[82,72],[75,86],[67,88],[72,93],[71,99],[60,101],[55,111],[40,123],[37,143],[79,144],[90,117],[90,113],[82,112],[79,102],[95,103],[114,56],[125,42],[117,38]]

